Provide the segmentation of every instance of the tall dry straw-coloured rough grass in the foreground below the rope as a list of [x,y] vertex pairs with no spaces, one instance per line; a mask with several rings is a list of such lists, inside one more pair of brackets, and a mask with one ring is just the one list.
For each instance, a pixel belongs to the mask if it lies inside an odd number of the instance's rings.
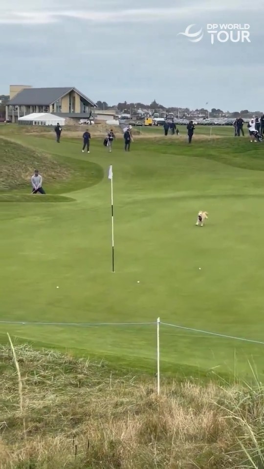
[[[155,383],[106,363],[0,346],[0,468],[263,468],[264,389]],[[140,384],[141,379],[141,384]],[[23,423],[25,423],[25,434]]]

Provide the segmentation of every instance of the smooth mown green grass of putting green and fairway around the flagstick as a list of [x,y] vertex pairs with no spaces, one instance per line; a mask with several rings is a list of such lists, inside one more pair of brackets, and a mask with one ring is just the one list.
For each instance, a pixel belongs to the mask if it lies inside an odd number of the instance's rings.
[[[1,320],[126,323],[160,317],[263,341],[261,145],[223,137],[194,138],[188,146],[155,133],[153,139],[135,139],[130,153],[117,140],[111,155],[102,139],[94,139],[87,155],[72,138],[60,145],[32,135],[12,138],[70,166],[76,177],[62,185],[44,182],[48,193],[66,195],[72,203],[42,203],[37,209],[29,202],[0,203]],[[91,164],[98,175],[93,185]],[[204,228],[195,226],[199,210],[209,213]],[[2,337],[7,331],[38,346],[155,372],[155,325],[1,324]],[[162,372],[196,376],[213,369],[233,375],[235,370],[246,376],[249,360],[263,373],[261,344],[162,325],[160,347]]]

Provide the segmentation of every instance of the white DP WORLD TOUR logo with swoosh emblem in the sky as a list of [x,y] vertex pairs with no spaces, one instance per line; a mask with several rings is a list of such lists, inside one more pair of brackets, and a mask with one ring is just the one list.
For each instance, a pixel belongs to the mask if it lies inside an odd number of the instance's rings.
[[[184,33],[178,33],[178,36],[185,36],[191,43],[199,43],[203,38],[203,29],[191,33],[191,29],[195,24],[189,24]],[[211,44],[215,41],[219,43],[244,43],[249,39],[249,24],[207,24],[206,30],[211,37]],[[197,28],[196,28],[197,29]]]

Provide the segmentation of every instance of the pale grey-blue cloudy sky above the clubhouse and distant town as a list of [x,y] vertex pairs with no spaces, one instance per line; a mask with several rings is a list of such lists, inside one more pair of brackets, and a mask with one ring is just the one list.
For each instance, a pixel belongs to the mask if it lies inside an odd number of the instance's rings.
[[[263,20],[263,0],[0,0],[0,95],[75,86],[110,105],[263,111]],[[250,43],[212,44],[208,24],[247,24]]]

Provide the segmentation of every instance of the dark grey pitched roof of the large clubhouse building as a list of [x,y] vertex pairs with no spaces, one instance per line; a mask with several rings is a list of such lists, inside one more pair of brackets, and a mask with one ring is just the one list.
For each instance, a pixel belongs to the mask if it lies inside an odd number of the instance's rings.
[[50,106],[63,98],[70,91],[76,91],[81,97],[86,99],[91,106],[96,107],[87,96],[74,88],[67,86],[63,88],[25,88],[22,89],[13,99],[8,102],[10,106]]

